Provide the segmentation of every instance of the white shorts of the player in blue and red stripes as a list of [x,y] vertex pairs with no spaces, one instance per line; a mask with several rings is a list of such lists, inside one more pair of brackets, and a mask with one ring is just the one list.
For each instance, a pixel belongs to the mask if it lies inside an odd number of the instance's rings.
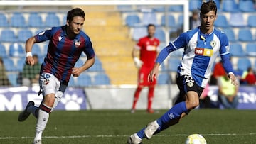
[[40,75],[39,85],[43,96],[55,94],[55,96],[59,98],[61,98],[67,88],[67,85],[61,84],[60,81],[50,73],[42,73]]

